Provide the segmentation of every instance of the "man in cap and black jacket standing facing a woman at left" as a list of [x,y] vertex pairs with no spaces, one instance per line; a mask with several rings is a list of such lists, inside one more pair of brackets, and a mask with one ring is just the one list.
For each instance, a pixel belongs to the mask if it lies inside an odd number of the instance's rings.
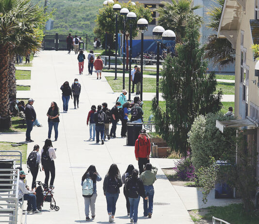
[[30,98],[28,100],[28,104],[25,107],[24,114],[25,114],[25,119],[26,119],[26,125],[27,125],[27,130],[26,130],[26,142],[33,142],[31,139],[31,131],[33,127],[33,122],[36,119],[36,112],[34,108],[32,107],[34,100]]

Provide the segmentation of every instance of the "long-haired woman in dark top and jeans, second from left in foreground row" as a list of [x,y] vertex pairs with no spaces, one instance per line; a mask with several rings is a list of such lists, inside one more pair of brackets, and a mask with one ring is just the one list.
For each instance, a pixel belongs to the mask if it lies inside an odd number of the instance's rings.
[[103,192],[106,196],[107,211],[110,223],[114,222],[116,202],[119,197],[120,187],[122,187],[120,171],[116,164],[112,164],[103,181]]

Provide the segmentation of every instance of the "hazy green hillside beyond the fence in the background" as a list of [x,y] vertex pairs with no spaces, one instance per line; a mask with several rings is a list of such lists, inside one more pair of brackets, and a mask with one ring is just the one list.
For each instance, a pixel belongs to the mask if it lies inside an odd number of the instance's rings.
[[[48,11],[56,12],[52,16],[53,29],[48,32],[84,32],[92,34],[95,19],[104,0],[48,0]],[[32,0],[44,6],[45,0]]]

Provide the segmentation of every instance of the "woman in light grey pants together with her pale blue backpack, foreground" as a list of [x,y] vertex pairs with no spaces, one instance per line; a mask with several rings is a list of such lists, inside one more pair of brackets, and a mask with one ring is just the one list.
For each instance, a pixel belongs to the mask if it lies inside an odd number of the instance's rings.
[[89,207],[91,208],[92,219],[95,219],[96,216],[96,181],[101,181],[100,175],[96,171],[94,165],[90,165],[84,175],[82,176],[81,186],[82,186],[82,195],[84,198],[84,212],[85,220],[90,221],[89,218]]

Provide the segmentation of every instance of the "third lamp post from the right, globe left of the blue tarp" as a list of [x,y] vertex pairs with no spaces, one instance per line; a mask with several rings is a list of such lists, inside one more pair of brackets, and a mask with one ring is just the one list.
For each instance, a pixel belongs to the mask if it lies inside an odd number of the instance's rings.
[[137,21],[137,26],[141,32],[141,59],[140,59],[140,100],[143,100],[143,46],[144,46],[144,32],[147,31],[148,22],[145,18],[141,18]]

